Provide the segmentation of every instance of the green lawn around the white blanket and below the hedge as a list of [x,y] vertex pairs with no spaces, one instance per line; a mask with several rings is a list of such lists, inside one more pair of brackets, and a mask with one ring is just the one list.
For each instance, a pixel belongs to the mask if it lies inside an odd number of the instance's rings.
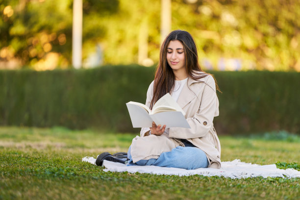
[[[300,178],[230,179],[103,172],[81,162],[126,151],[136,134],[0,127],[1,199],[299,199]],[[220,136],[222,160],[300,170],[299,140]]]

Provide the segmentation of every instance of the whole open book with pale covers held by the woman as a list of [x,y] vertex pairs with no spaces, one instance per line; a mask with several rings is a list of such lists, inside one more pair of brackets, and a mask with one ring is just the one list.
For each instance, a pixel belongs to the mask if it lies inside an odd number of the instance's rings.
[[191,128],[184,117],[184,111],[169,93],[156,101],[152,110],[145,104],[134,101],[129,101],[126,105],[134,128],[152,127],[152,122],[166,125],[166,128]]

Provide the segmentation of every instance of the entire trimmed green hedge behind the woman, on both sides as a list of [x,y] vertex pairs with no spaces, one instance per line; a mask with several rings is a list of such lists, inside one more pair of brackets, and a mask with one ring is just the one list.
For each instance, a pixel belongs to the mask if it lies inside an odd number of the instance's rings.
[[[0,71],[0,125],[135,131],[125,103],[145,102],[155,69]],[[211,72],[220,89],[219,133],[300,133],[300,73]]]

